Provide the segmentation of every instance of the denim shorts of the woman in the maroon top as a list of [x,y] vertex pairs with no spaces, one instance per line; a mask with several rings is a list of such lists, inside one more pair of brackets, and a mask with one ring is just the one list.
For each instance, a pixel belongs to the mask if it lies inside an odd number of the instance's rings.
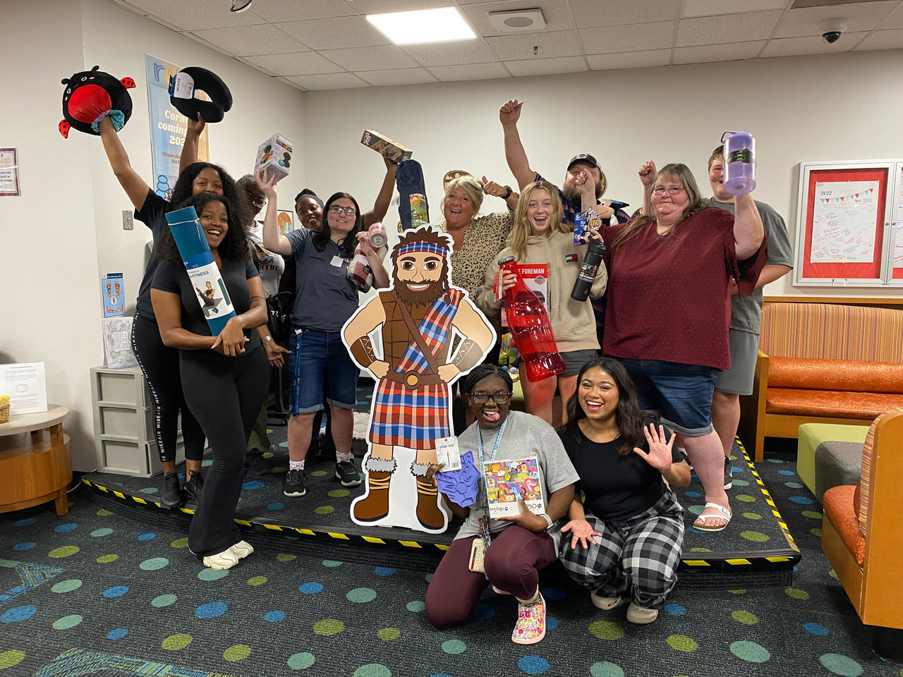
[[666,426],[687,437],[714,430],[712,393],[720,369],[657,359],[619,360],[637,386],[642,409],[660,413]]

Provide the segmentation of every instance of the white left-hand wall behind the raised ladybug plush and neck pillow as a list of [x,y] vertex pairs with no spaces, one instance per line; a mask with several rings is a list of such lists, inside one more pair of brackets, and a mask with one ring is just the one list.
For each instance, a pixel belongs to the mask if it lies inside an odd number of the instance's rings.
[[[79,11],[80,10],[80,11]],[[135,169],[152,178],[144,53],[182,66],[203,66],[226,81],[235,105],[210,125],[210,156],[237,178],[253,169],[258,144],[279,132],[303,153],[302,94],[107,0],[4,0],[0,41],[3,91],[0,146],[19,150],[23,196],[0,198],[0,362],[46,363],[47,394],[71,410],[73,467],[96,465],[88,369],[103,364],[100,275],[126,274],[132,303],[144,273],[149,233],[122,229],[130,205],[97,137],[57,132],[60,80],[99,64],[131,76],[134,111],[122,132]],[[293,209],[303,162],[280,184],[281,207]]]

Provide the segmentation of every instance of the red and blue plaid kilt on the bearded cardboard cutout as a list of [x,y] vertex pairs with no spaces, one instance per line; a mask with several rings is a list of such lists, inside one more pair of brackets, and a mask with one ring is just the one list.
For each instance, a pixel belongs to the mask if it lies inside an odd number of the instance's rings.
[[435,449],[435,440],[449,437],[448,384],[407,386],[380,379],[373,394],[370,441],[408,449]]

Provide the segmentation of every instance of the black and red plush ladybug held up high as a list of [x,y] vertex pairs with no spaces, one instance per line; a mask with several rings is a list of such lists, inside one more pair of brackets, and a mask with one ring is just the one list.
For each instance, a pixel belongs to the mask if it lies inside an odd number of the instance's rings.
[[85,134],[100,134],[98,123],[109,116],[118,132],[132,116],[132,97],[126,89],[135,87],[135,80],[117,80],[109,73],[98,70],[75,73],[61,80],[66,85],[62,93],[62,117],[60,134],[69,138],[70,129],[78,129]]

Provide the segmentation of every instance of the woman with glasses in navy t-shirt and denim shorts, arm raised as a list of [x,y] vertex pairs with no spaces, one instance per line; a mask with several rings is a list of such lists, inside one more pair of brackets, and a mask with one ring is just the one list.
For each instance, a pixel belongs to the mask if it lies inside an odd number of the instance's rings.
[[[266,199],[275,202],[275,179],[256,174]],[[285,496],[304,496],[304,457],[311,444],[313,419],[325,404],[330,408],[332,440],[336,445],[335,477],[343,487],[360,484],[351,456],[351,436],[357,402],[358,366],[341,339],[342,325],[358,310],[358,287],[347,270],[360,243],[373,271],[376,287],[387,287],[388,273],[368,243],[358,202],[349,193],[333,193],[323,205],[323,227],[318,232],[297,228],[279,233],[275,216],[264,219],[264,246],[295,260],[295,295],[292,311],[289,374],[292,378],[288,422],[289,469],[283,481]]]

